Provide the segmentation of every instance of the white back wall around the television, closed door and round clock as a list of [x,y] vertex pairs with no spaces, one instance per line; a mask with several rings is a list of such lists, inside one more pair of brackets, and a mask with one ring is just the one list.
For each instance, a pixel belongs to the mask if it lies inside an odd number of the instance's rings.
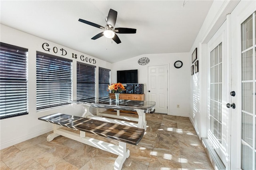
[[[147,65],[139,65],[138,59],[148,57]],[[180,69],[174,67],[174,62],[180,60],[183,66]],[[147,94],[148,66],[169,65],[169,103],[168,114],[189,117],[190,94],[190,53],[164,53],[144,54],[112,64],[111,82],[116,82],[117,70],[138,69],[138,83],[144,84],[144,93]],[[147,96],[146,96],[147,97]],[[179,104],[178,109],[176,105]]]

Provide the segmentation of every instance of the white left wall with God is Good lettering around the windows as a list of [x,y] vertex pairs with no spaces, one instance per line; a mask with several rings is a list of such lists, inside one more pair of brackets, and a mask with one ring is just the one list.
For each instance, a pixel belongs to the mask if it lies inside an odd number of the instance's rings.
[[[2,24],[0,25],[0,27],[1,42],[28,49],[28,115],[0,120],[0,149],[3,149],[52,130],[52,125],[50,125],[50,123],[39,121],[38,117],[58,112],[72,115],[82,115],[82,113],[84,112],[84,109],[82,107],[78,107],[77,105],[65,105],[62,107],[56,107],[55,109],[45,109],[40,111],[36,110],[36,51],[73,59],[72,68],[74,99],[76,99],[76,61],[90,64],[89,62],[82,61],[80,59],[80,55],[84,55],[84,57],[96,60],[96,64],[92,64],[97,66],[96,82],[98,82],[98,66],[111,69],[111,63],[80,53],[79,51],[75,51],[68,47],[64,47],[62,45],[58,45],[47,40],[43,40],[36,36],[20,32]],[[45,51],[42,48],[43,43],[49,44],[50,52]],[[53,47],[58,48],[57,53],[53,52]],[[61,55],[61,48],[67,51],[67,55]],[[78,55],[77,59],[72,58],[72,53]],[[98,89],[97,85],[98,83],[96,83],[96,89]]]

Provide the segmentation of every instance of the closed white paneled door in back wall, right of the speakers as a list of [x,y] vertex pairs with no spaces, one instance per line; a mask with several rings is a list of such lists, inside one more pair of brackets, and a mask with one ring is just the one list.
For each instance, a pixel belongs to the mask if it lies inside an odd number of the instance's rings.
[[156,102],[156,113],[167,114],[168,65],[148,67],[148,101]]

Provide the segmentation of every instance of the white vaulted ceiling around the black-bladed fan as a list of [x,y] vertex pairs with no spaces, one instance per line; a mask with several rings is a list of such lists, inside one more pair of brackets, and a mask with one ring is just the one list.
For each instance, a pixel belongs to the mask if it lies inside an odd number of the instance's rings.
[[[165,1],[0,1],[1,24],[114,63],[142,54],[190,51],[212,5],[212,0]],[[116,44],[101,29],[78,19],[105,26],[109,9],[118,12],[116,26],[136,28],[136,34],[118,34]]]

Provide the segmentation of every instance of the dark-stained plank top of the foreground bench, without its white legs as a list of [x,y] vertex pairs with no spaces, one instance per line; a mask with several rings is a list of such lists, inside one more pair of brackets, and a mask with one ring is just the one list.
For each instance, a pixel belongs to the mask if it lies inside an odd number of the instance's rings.
[[145,132],[143,128],[118,125],[62,113],[55,113],[38,119],[134,145],[140,142]]

